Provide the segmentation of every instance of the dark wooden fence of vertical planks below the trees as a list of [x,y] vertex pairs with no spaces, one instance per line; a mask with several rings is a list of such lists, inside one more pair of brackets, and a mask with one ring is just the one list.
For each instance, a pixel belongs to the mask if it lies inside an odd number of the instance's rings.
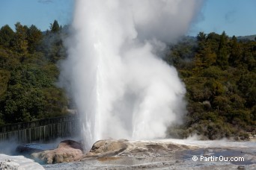
[[71,137],[78,134],[77,116],[61,116],[34,122],[17,123],[0,127],[0,142],[15,140],[29,143],[47,141],[58,137]]

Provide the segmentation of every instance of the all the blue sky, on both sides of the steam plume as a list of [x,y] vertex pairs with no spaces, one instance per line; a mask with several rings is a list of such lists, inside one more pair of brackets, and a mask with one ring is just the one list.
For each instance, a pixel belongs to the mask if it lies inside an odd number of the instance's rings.
[[[36,25],[41,31],[49,29],[55,19],[60,25],[72,22],[75,0],[0,0],[0,27],[16,22]],[[189,0],[188,0],[189,1]],[[256,34],[255,0],[205,0],[198,18],[188,35],[225,31],[229,36]]]

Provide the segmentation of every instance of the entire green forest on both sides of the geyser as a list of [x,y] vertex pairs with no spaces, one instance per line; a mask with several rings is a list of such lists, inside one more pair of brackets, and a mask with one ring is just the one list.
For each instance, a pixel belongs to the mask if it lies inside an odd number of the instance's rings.
[[[66,57],[67,26],[55,20],[49,31],[17,22],[0,29],[0,125],[67,114],[70,103],[58,82]],[[249,139],[256,130],[256,40],[204,32],[169,44],[164,60],[186,85],[183,125],[168,136]]]

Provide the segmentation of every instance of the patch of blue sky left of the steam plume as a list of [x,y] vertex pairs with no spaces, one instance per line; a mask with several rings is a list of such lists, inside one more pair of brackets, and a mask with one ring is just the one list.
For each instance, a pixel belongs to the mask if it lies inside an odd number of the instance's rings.
[[60,25],[70,24],[74,0],[0,0],[0,27],[15,23],[49,29],[56,19]]

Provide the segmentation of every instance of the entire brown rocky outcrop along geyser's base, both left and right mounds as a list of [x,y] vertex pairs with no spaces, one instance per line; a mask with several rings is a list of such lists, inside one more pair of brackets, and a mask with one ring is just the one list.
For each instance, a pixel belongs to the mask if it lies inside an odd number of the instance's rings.
[[169,155],[172,155],[174,151],[182,151],[188,148],[189,147],[186,145],[177,145],[172,142],[136,142],[128,141],[126,139],[106,139],[95,142],[91,150],[88,153],[83,154],[83,148],[79,142],[65,140],[62,141],[56,149],[34,153],[31,154],[31,156],[49,164],[69,163],[80,160],[117,162],[121,161],[124,157],[133,157],[134,159],[153,157],[153,160],[156,160],[155,157],[158,157],[158,155],[168,157]]

